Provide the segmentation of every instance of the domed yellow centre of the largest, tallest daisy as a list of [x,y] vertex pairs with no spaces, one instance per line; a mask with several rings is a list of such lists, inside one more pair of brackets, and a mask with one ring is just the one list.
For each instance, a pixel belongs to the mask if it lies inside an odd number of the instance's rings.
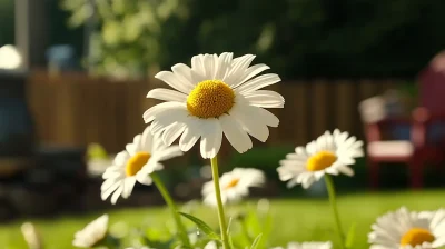
[[234,106],[235,92],[220,80],[199,82],[187,98],[187,110],[196,117],[218,118]]

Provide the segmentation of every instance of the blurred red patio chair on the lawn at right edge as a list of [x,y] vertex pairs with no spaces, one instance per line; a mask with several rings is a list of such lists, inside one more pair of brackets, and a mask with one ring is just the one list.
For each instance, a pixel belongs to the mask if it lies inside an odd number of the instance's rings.
[[[419,107],[408,117],[388,113],[388,99],[384,97],[375,97],[360,104],[373,189],[378,187],[382,162],[406,163],[413,189],[422,188],[423,168],[427,163],[442,167],[445,162],[444,52],[421,72],[419,83]],[[395,130],[403,128],[407,138],[390,138]]]

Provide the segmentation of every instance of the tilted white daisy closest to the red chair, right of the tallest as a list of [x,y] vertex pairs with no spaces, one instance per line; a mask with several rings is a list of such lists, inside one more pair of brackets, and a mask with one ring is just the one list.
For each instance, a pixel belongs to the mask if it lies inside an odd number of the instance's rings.
[[295,148],[295,153],[280,161],[277,171],[281,181],[289,181],[289,188],[300,183],[306,189],[325,173],[353,176],[354,171],[348,166],[363,156],[363,141],[336,129],[333,133],[326,131],[306,148]]

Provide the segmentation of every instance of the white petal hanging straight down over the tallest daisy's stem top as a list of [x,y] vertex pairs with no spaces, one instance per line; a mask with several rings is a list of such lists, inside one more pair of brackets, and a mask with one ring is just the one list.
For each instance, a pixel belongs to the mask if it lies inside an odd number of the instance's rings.
[[222,129],[217,119],[206,119],[201,126],[201,156],[202,158],[214,158],[221,148]]

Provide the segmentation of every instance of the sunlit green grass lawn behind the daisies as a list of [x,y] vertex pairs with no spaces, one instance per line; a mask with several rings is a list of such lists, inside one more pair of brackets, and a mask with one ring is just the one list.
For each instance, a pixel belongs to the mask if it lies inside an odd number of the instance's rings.
[[[345,230],[356,222],[357,237],[355,248],[368,248],[367,233],[376,217],[388,211],[406,206],[413,210],[433,210],[443,207],[444,190],[429,190],[422,192],[384,192],[357,193],[338,198],[338,208]],[[250,201],[248,205],[255,205]],[[244,209],[245,206],[238,206]],[[288,241],[304,240],[333,240],[337,241],[334,218],[327,200],[314,199],[277,199],[270,203],[274,217],[274,229],[270,241],[274,246],[284,246]],[[52,220],[32,220],[40,229],[46,241],[44,249],[69,249],[72,235],[91,219],[101,213],[85,216],[60,217]],[[110,223],[126,221],[129,225],[150,223],[152,227],[166,225],[168,212],[162,208],[122,209],[109,212]],[[216,212],[199,207],[195,212],[205,221],[217,225]],[[26,243],[20,233],[21,222],[0,226],[0,248],[24,249]]]

